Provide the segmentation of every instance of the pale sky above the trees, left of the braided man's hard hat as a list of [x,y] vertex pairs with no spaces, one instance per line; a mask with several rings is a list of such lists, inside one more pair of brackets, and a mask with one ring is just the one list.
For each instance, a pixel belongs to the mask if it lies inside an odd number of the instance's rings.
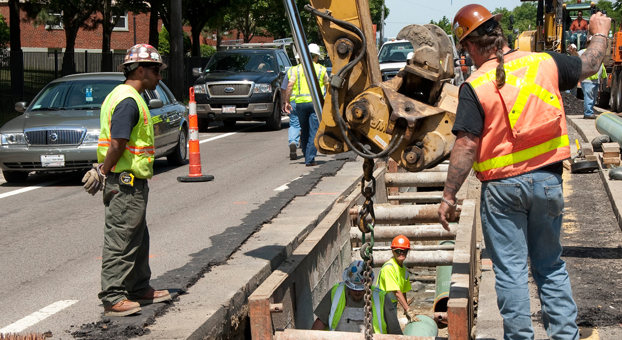
[[[453,21],[458,9],[468,4],[480,4],[489,11],[497,7],[509,10],[521,6],[520,0],[385,0],[389,16],[384,19],[384,37],[395,37],[402,27],[410,24],[429,24],[446,16]],[[493,13],[494,14],[494,13]]]

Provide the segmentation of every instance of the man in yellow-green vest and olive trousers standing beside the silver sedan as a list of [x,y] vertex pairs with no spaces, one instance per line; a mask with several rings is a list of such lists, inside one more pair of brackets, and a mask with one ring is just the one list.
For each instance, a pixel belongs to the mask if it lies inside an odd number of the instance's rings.
[[156,90],[166,68],[160,53],[147,44],[129,48],[118,70],[126,77],[101,104],[98,164],[83,178],[91,195],[103,190],[104,246],[101,292],[105,316],[141,311],[141,304],[171,298],[149,285],[149,231],[145,219],[154,174],[154,127],[141,94]]

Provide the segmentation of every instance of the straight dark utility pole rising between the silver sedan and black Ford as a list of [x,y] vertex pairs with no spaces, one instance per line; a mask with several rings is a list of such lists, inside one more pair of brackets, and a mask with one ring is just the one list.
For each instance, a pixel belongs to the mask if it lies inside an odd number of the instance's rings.
[[170,0],[170,91],[183,101],[182,0]]

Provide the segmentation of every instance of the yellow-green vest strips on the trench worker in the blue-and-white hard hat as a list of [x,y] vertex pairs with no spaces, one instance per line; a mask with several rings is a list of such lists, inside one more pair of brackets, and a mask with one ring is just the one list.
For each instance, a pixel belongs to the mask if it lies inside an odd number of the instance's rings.
[[[371,313],[373,314],[373,328],[376,334],[386,334],[386,323],[384,322],[384,295],[385,292],[376,287],[371,287],[372,303]],[[335,296],[339,298],[335,299]],[[346,308],[346,289],[345,283],[337,283],[330,292],[330,314],[328,315],[328,330],[337,329],[341,313]],[[381,326],[379,326],[381,325]]]

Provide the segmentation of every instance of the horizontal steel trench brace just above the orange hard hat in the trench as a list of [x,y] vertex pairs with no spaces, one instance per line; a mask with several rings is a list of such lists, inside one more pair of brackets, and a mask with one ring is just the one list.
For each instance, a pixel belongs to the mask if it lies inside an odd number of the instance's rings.
[[[397,235],[404,235],[411,241],[453,240],[456,236],[440,224],[422,224],[420,226],[376,226],[374,227],[375,242],[391,242]],[[369,236],[366,236],[369,238]],[[361,231],[358,227],[350,228],[352,242],[361,242]],[[437,247],[437,246],[435,246]]]

